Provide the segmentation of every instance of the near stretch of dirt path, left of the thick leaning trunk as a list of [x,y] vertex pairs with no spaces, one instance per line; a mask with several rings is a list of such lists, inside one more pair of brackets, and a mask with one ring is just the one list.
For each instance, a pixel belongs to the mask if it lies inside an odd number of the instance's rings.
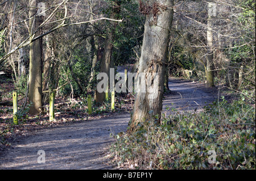
[[[42,129],[16,141],[0,155],[0,169],[111,169],[104,149],[110,133],[126,131],[130,114]],[[44,150],[46,163],[38,163]]]

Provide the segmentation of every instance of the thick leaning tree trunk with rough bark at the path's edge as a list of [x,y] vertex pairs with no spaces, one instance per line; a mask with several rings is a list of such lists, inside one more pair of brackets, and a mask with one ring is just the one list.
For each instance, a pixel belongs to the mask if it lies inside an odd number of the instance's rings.
[[147,14],[138,71],[144,75],[141,83],[145,86],[138,86],[137,89],[130,133],[136,130],[138,123],[154,124],[154,115],[158,114],[160,120],[173,5],[173,0],[155,0],[146,5],[140,2],[141,12]]

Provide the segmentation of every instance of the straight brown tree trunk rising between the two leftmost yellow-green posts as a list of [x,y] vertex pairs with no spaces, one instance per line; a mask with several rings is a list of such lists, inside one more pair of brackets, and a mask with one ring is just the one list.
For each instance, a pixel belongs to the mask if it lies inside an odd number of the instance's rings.
[[[40,22],[41,16],[32,18],[38,9],[36,0],[29,1],[29,17],[30,34],[34,32]],[[38,36],[40,31],[36,33]],[[40,113],[39,107],[42,107],[42,39],[38,39],[30,44],[30,82],[29,82],[29,96],[28,101],[31,102],[30,111],[31,115]]]

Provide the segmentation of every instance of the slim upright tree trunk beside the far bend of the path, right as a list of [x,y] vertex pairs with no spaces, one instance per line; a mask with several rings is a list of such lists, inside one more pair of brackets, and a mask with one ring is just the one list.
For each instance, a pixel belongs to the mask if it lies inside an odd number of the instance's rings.
[[[207,24],[207,45],[208,45],[208,55],[207,55],[207,87],[214,86],[214,75],[213,75],[213,34],[212,34],[212,18],[216,13],[216,4],[209,2],[208,4],[208,24]],[[214,12],[215,11],[215,12]]]

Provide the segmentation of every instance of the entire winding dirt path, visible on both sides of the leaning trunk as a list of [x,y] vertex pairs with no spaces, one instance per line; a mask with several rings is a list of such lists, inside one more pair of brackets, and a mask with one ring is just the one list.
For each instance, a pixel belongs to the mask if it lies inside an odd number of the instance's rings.
[[[211,90],[198,83],[171,79],[169,86],[172,93],[165,96],[163,108],[200,111],[214,100]],[[129,119],[130,113],[122,113],[31,132],[0,154],[0,169],[113,169],[104,157],[114,140],[110,133],[125,132]],[[44,150],[46,163],[38,163],[39,150]]]

